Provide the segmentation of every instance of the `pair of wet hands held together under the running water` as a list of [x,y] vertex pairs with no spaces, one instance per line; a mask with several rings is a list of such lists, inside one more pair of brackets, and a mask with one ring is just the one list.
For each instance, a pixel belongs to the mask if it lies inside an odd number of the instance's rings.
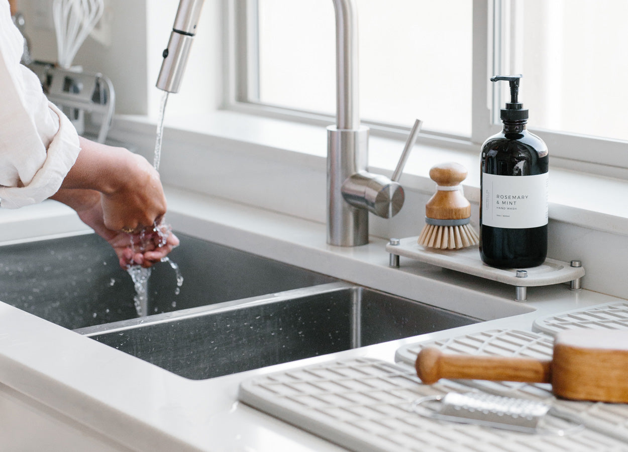
[[116,251],[121,267],[149,267],[179,243],[162,230],[166,198],[159,173],[128,149],[78,137],[80,153],[51,196],[72,207]]

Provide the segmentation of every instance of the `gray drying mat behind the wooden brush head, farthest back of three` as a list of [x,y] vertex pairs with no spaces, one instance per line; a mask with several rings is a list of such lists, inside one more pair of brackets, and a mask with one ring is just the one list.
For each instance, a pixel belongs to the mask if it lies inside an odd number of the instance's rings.
[[566,311],[535,320],[533,328],[551,335],[573,328],[626,330],[628,329],[628,303],[607,303],[587,309]]

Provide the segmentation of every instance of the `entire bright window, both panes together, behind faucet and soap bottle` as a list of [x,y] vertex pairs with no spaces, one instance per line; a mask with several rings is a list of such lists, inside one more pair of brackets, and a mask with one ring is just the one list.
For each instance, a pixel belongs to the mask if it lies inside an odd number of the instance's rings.
[[[247,43],[237,102],[333,116],[332,1],[233,1],[246,11],[234,14]],[[493,86],[490,75],[523,73],[529,128],[554,163],[628,168],[628,90],[618,89],[628,67],[624,0],[356,3],[360,117],[372,129],[420,117],[429,134],[482,143],[499,131],[507,95],[507,83]]]

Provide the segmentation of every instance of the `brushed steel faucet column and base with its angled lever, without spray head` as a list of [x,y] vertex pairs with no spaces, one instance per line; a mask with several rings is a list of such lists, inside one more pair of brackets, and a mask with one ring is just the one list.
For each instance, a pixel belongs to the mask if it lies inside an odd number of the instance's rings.
[[358,28],[355,0],[333,0],[336,12],[336,124],[327,127],[327,243],[358,246],[369,242],[369,212],[396,215],[404,202],[398,180],[413,148],[416,121],[391,179],[367,171],[369,128],[360,125]]

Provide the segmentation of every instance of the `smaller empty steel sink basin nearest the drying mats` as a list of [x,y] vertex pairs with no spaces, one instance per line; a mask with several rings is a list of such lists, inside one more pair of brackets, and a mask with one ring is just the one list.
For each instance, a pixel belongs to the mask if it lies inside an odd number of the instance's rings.
[[477,321],[335,282],[77,332],[199,380]]

